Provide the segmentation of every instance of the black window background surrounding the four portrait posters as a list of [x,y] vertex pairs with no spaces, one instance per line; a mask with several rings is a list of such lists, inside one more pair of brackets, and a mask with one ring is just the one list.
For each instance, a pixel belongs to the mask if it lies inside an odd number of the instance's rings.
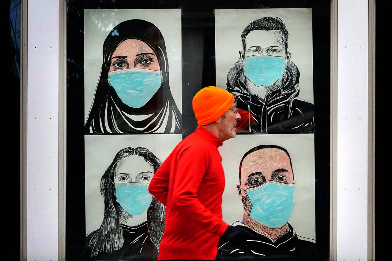
[[316,123],[316,132],[314,133],[316,247],[319,254],[319,257],[315,257],[315,260],[328,260],[330,224],[330,1],[328,0],[161,0],[132,2],[68,0],[65,241],[67,260],[85,259],[83,255],[85,247],[83,10],[182,9],[182,137],[185,138],[197,126],[192,111],[192,97],[201,88],[216,83],[214,9],[299,7],[312,8],[314,117]]

